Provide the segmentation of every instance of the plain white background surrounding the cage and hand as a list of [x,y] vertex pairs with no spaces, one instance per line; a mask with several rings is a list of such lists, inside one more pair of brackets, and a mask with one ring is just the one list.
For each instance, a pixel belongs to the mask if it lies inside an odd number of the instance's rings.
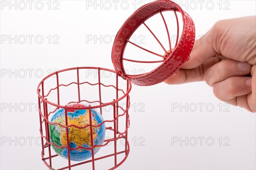
[[[35,140],[40,136],[39,117],[35,108],[37,85],[54,69],[77,66],[113,69],[111,49],[114,38],[111,42],[109,39],[108,42],[103,39],[102,42],[87,42],[86,38],[88,35],[115,35],[135,9],[152,1],[125,1],[128,9],[125,9],[122,1],[118,1],[116,9],[115,3],[109,1],[112,8],[107,9],[109,6],[104,6],[105,1],[97,1],[102,6],[95,6],[95,1],[58,0],[51,1],[49,9],[48,0],[43,0],[44,7],[41,10],[35,7],[37,1],[33,1],[31,10],[27,1],[24,10],[20,9],[23,8],[21,3],[17,9],[15,6],[9,9],[9,1],[0,2],[0,169],[44,170],[47,168],[41,161],[41,146],[37,144],[40,140]],[[17,5],[19,2],[16,1]],[[194,20],[197,37],[205,34],[218,20],[256,13],[254,0],[204,1],[201,7],[198,1],[191,2],[183,1],[182,8]],[[3,5],[6,3],[7,6]],[[59,9],[53,10],[56,5]],[[23,40],[17,40],[15,44],[15,40],[3,41],[3,35],[34,37],[31,43],[27,37],[24,44],[20,43]],[[41,44],[35,42],[37,35],[44,37]],[[51,40],[55,40],[53,36],[57,35],[59,43],[53,44],[51,41],[49,44],[49,35]],[[10,74],[15,69],[16,74]],[[31,75],[28,69],[32,69]],[[42,71],[38,69],[43,71],[43,77]],[[202,108],[198,103],[203,103]],[[31,109],[29,105],[32,105]],[[130,109],[131,127],[128,137],[131,152],[119,169],[256,168],[256,115],[219,101],[205,82],[184,85],[162,83],[151,87],[133,85],[131,105],[134,105]],[[173,107],[177,105],[177,108]],[[159,137],[160,141],[157,140]],[[186,142],[172,144],[174,139],[186,140],[186,137],[187,146]],[[202,144],[200,137],[204,138]],[[192,139],[195,138],[197,144],[192,146]],[[211,140],[206,142],[207,138],[214,139],[212,146],[209,146]],[[98,168],[104,169],[104,161]]]

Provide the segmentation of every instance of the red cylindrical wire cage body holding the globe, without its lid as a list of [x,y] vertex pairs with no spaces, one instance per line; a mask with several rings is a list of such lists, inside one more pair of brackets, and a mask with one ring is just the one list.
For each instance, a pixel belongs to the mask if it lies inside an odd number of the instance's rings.
[[[88,82],[88,81],[84,81],[81,82],[81,74],[83,72],[86,72],[88,70],[93,70],[96,71],[95,77],[94,78],[94,82]],[[69,71],[75,71],[76,72],[76,82],[69,82],[67,84],[60,84],[60,78],[61,74],[65,73],[65,72],[69,72]],[[102,76],[101,73],[102,71],[108,72],[109,74],[113,74],[115,76],[116,82],[114,85],[105,85],[102,82]],[[64,75],[63,75],[64,76]],[[63,77],[62,76],[62,77]],[[104,78],[104,76],[103,76]],[[55,82],[55,87],[51,88],[46,88],[46,84],[47,84],[47,80],[49,79],[53,79],[51,80],[51,82]],[[96,82],[97,80],[97,82]],[[93,81],[93,80],[92,80]],[[126,88],[122,89],[119,87],[120,82],[122,82],[122,84],[126,84]],[[51,84],[52,83],[49,83]],[[70,103],[80,103],[80,102],[87,102],[90,103],[89,106],[87,107],[70,107],[68,105],[60,105],[61,103],[61,92],[65,91],[65,88],[68,88],[72,85],[76,86],[76,96],[77,96],[77,100],[76,101],[72,101]],[[81,91],[82,88],[86,88],[85,86],[82,85],[87,85],[87,91],[90,90],[90,87],[93,86],[97,86],[98,89],[98,100],[95,101],[88,101],[86,99],[83,99],[82,95],[81,95]],[[49,86],[49,85],[48,85]],[[89,88],[88,88],[89,87]],[[113,99],[112,102],[108,102],[108,103],[104,103],[102,102],[102,90],[103,88],[112,88],[112,90],[114,90],[115,93],[115,99]],[[49,90],[47,90],[49,89]],[[53,92],[56,91],[56,95],[54,97],[51,97],[51,95],[53,94]],[[71,148],[69,147],[69,136],[68,136],[68,132],[67,132],[67,146],[63,146],[65,148],[67,148],[68,150],[68,164],[65,167],[61,167],[58,168],[58,170],[64,170],[64,169],[71,169],[71,167],[75,167],[75,166],[79,166],[82,164],[87,164],[87,163],[91,163],[92,167],[90,169],[95,169],[95,161],[100,160],[100,159],[104,159],[104,158],[108,158],[110,156],[114,157],[114,161],[113,161],[113,167],[111,167],[110,169],[115,169],[116,167],[118,167],[119,165],[121,165],[125,159],[127,158],[128,154],[129,154],[129,143],[128,143],[128,127],[129,127],[129,114],[128,114],[128,110],[130,107],[130,98],[129,98],[129,93],[131,91],[131,81],[129,79],[122,79],[119,78],[119,76],[116,74],[116,71],[110,70],[110,69],[105,69],[105,68],[94,68],[94,67],[81,67],[81,68],[70,68],[70,69],[65,69],[65,70],[61,70],[61,71],[57,71],[53,74],[50,74],[49,76],[47,76],[46,78],[44,78],[39,86],[38,86],[38,108],[39,108],[39,117],[40,117],[40,133],[41,133],[41,142],[42,142],[42,160],[44,161],[44,163],[46,164],[46,166],[51,169],[51,170],[55,170],[56,168],[53,167],[53,159],[55,159],[55,157],[58,156],[58,154],[52,154],[52,150],[51,150],[51,145],[60,148],[58,146],[56,146],[54,143],[52,143],[50,141],[50,133],[49,133],[49,125],[58,125],[62,128],[65,128],[66,130],[68,130],[68,128],[70,128],[71,126],[75,126],[75,125],[68,125],[68,119],[67,119],[67,110],[68,109],[76,109],[76,110],[84,110],[84,109],[88,109],[89,110],[89,117],[90,117],[90,125],[84,126],[84,127],[77,127],[79,129],[83,129],[86,127],[90,127],[91,133],[90,133],[90,138],[92,141],[92,146],[87,148],[87,147],[76,147],[76,148]],[[121,95],[120,95],[121,94]],[[53,96],[53,95],[52,95]],[[50,102],[47,98],[51,97],[52,101],[56,101],[55,102]],[[125,100],[125,105],[119,105],[119,102]],[[70,104],[68,103],[68,104]],[[52,111],[48,111],[49,110],[49,105],[51,107],[54,107],[52,109]],[[106,106],[111,106],[113,108],[113,112],[112,113],[107,113],[107,114],[111,114],[112,118],[111,119],[107,119],[105,121],[103,121],[101,124],[99,125],[92,125],[92,112],[91,109],[99,109],[100,113],[104,116],[104,112],[103,108]],[[51,123],[49,121],[50,116],[52,116],[52,114],[57,111],[58,109],[63,108],[65,110],[65,117],[66,117],[66,125],[61,125],[59,123]],[[121,117],[124,117],[125,119],[125,124],[124,125],[120,125],[119,123],[119,119]],[[100,145],[93,145],[93,133],[92,133],[92,128],[93,127],[99,127],[101,126],[103,123],[110,123],[112,124],[112,126],[106,126],[106,130],[109,131],[113,131],[113,137],[111,139],[105,139],[103,144]],[[120,126],[124,126],[124,129],[122,132],[120,132]],[[124,144],[124,148],[122,151],[117,151],[116,148],[116,143],[118,140],[120,139],[124,139],[125,140],[125,144]],[[109,142],[114,142],[114,150],[112,154],[107,154],[104,156],[100,156],[100,157],[95,157],[94,153],[93,153],[93,148],[95,147],[108,147],[107,145],[109,144]],[[124,142],[123,142],[124,143]],[[91,150],[92,153],[92,157],[90,160],[86,160],[86,161],[81,161],[79,163],[76,164],[71,164],[70,161],[70,150],[76,150],[79,148],[83,148],[86,150]],[[46,155],[46,152],[48,156]],[[123,159],[121,161],[117,161],[117,155],[119,154],[123,154]]]

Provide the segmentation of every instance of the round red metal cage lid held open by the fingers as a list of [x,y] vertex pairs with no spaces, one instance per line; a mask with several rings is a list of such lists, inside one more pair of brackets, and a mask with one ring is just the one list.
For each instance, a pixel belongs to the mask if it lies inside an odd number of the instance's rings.
[[[163,60],[160,61],[162,62],[161,65],[155,68],[154,70],[140,75],[125,74],[123,60],[127,59],[125,59],[123,56],[125,47],[127,43],[130,42],[129,39],[137,30],[137,28],[139,28],[140,25],[145,24],[144,22],[148,20],[148,18],[158,13],[162,15],[163,11],[174,11],[177,22],[178,18],[176,11],[181,13],[183,18],[183,31],[179,42],[176,42],[173,51],[170,54],[167,54],[166,57],[164,57]],[[166,25],[164,18],[163,21]],[[170,37],[167,26],[166,31],[168,33],[170,43]],[[130,79],[133,84],[140,86],[155,85],[171,77],[181,68],[184,62],[186,62],[189,59],[189,54],[192,51],[194,42],[195,25],[192,18],[185,11],[183,11],[180,8],[180,6],[178,6],[176,3],[170,0],[157,0],[139,8],[137,11],[134,12],[134,14],[131,15],[131,17],[128,18],[128,20],[125,21],[125,23],[117,33],[113,43],[112,62],[119,76],[126,79]]]

